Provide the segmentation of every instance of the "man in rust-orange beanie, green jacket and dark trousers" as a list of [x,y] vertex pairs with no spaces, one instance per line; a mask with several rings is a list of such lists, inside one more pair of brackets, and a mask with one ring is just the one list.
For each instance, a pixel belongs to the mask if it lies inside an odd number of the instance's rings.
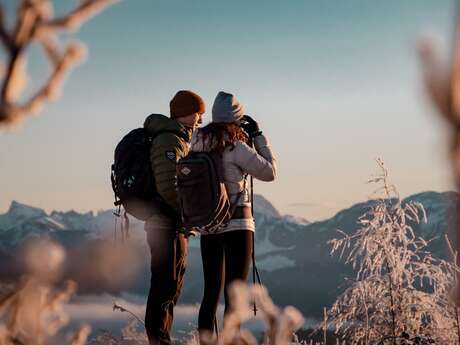
[[179,233],[180,209],[176,192],[176,162],[189,151],[192,132],[202,122],[203,99],[179,91],[171,100],[170,118],[152,114],[144,128],[154,136],[150,162],[158,194],[165,208],[145,223],[151,251],[151,282],[145,313],[145,328],[151,345],[171,344],[173,308],[183,285],[187,240]]

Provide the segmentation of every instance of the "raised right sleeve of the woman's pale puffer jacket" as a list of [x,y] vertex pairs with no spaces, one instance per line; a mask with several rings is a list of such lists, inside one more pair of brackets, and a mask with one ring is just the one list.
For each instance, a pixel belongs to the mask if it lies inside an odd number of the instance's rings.
[[259,135],[254,138],[254,148],[245,143],[235,146],[236,164],[245,172],[261,181],[273,181],[276,178],[276,160],[267,138]]

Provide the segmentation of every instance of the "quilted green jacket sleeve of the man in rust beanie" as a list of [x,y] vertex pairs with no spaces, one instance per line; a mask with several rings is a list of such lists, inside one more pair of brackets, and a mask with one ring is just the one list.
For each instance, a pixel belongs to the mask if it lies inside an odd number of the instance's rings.
[[163,133],[153,140],[150,164],[158,194],[176,212],[179,203],[176,191],[176,162],[188,153],[188,145],[173,133]]

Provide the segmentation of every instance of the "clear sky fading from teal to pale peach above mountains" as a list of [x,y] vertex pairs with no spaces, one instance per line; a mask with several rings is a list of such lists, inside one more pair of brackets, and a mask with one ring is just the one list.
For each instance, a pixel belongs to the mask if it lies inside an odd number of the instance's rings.
[[[59,14],[76,2],[55,3]],[[220,90],[258,120],[278,178],[255,192],[284,214],[319,220],[366,200],[377,157],[402,196],[453,189],[449,133],[416,54],[429,34],[447,58],[453,21],[453,0],[120,1],[61,35],[87,50],[61,97],[0,131],[0,213],[12,200],[47,211],[112,207],[117,142],[148,114],[168,115],[181,89],[203,96],[205,123]],[[28,69],[24,97],[49,71],[35,46]]]

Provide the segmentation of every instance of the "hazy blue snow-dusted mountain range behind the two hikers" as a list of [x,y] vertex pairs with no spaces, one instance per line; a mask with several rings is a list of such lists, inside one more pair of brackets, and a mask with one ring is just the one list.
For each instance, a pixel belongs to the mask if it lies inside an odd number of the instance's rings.
[[[460,200],[459,195],[456,192],[423,192],[403,202],[408,200],[423,204],[428,218],[427,223],[413,224],[415,232],[425,239],[433,239],[430,250],[446,257],[443,235],[451,222],[452,207]],[[255,196],[256,263],[262,283],[267,286],[275,303],[295,305],[308,316],[321,315],[322,308],[329,306],[345,287],[344,278],[353,276],[351,267],[329,255],[327,242],[337,237],[338,229],[347,233],[356,231],[359,216],[367,212],[374,202],[358,203],[330,219],[310,223],[303,218],[283,216],[267,199]],[[117,222],[119,225],[120,220]],[[113,210],[83,214],[53,211],[48,214],[40,208],[13,201],[9,210],[0,215],[0,279],[15,279],[21,273],[15,255],[31,239],[48,237],[72,251],[76,247],[113,241],[114,226]],[[145,295],[150,284],[150,254],[144,240],[143,223],[131,219],[130,228],[130,241],[135,243],[143,258],[140,274],[129,282],[128,287],[109,292],[125,290]],[[199,303],[203,282],[198,238],[190,239],[188,260],[180,302]],[[94,287],[83,284],[81,293],[100,293],[103,290],[102,286],[94,291]]]

